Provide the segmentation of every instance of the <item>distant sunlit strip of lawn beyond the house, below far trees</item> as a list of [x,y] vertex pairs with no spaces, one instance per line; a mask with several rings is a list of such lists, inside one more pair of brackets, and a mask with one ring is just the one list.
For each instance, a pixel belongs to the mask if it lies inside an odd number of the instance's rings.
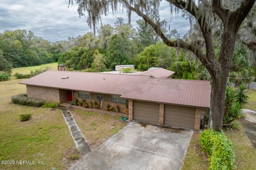
[[36,66],[30,66],[30,67],[18,67],[12,69],[12,74],[18,72],[22,74],[28,74],[30,71],[35,71],[36,69],[40,69],[41,67],[49,66],[52,68],[52,70],[58,69],[58,63],[49,63],[49,64],[42,64],[42,65],[36,65]]

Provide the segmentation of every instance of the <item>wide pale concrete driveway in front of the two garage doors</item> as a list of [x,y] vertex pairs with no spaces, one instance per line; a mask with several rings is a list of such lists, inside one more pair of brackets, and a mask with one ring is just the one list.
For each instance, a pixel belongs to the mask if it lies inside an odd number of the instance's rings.
[[70,169],[180,169],[192,134],[132,122]]

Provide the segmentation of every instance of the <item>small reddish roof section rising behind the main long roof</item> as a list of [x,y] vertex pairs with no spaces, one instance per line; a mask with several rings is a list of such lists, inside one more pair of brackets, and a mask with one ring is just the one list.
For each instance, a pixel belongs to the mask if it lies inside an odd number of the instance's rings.
[[172,74],[175,72],[166,70],[163,68],[157,68],[154,70],[148,70],[148,71],[143,71],[141,73],[138,73],[138,75],[148,75],[154,78],[169,78]]

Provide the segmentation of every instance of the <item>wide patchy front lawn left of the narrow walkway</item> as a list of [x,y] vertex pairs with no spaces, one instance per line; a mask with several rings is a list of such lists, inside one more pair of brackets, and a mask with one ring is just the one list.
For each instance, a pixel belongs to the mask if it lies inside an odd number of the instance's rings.
[[[0,165],[0,169],[67,169],[76,149],[61,112],[12,104],[11,96],[26,92],[19,81],[0,82],[0,160],[38,159],[44,165]],[[20,114],[32,118],[20,122]]]

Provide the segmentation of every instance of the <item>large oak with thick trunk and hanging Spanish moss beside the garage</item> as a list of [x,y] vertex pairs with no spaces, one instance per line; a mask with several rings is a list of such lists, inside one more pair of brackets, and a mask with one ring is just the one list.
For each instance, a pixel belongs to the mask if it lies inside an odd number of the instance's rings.
[[[71,2],[72,0],[69,0]],[[249,14],[256,0],[237,0],[226,1],[209,0],[209,1],[193,1],[193,0],[166,0],[171,6],[185,10],[189,13],[199,28],[198,36],[202,35],[204,50],[198,46],[197,41],[186,42],[183,39],[169,39],[166,37],[161,28],[161,21],[154,22],[148,16],[149,13],[157,12],[161,1],[152,1],[148,6],[145,1],[133,0],[76,0],[78,4],[79,14],[88,13],[88,21],[95,26],[96,19],[106,14],[109,8],[113,12],[117,12],[118,3],[123,4],[131,17],[131,11],[142,17],[145,22],[151,25],[159,37],[167,46],[178,47],[190,50],[202,62],[209,71],[211,84],[211,112],[209,118],[209,127],[220,131],[222,129],[225,90],[230,70],[230,62],[233,58],[233,52],[237,40],[238,29],[246,16]],[[147,1],[148,2],[148,1]],[[151,1],[150,1],[151,2]],[[88,5],[91,4],[91,5]],[[93,5],[92,5],[93,4]],[[171,10],[170,10],[171,11]],[[215,22],[214,22],[215,21]],[[219,55],[215,55],[213,42],[213,29],[218,21],[221,32],[221,48]]]

